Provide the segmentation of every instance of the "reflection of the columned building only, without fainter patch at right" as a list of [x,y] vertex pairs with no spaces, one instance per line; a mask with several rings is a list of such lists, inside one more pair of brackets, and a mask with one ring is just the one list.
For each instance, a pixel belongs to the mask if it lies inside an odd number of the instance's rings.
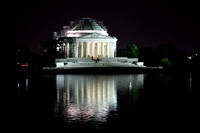
[[63,104],[68,120],[105,121],[116,110],[114,77],[57,75],[57,102]]

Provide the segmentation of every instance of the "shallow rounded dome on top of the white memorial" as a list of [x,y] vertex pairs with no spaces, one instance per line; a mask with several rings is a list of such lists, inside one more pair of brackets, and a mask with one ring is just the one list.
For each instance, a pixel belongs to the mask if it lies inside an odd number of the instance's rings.
[[95,19],[84,17],[76,21],[71,21],[69,30],[96,30],[96,31],[107,31],[103,22],[99,22]]

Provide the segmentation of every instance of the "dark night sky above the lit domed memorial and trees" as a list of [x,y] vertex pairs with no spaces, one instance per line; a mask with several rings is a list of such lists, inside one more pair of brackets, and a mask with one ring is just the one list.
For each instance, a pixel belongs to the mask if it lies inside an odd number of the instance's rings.
[[157,47],[174,43],[190,52],[200,49],[198,1],[174,0],[30,0],[13,3],[13,43],[39,52],[40,41],[52,39],[54,31],[71,20],[92,17],[104,21],[118,49],[128,44]]

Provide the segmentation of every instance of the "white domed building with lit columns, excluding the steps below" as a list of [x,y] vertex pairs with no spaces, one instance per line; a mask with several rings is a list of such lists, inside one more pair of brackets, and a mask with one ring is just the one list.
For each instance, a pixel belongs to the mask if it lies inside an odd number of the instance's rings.
[[54,32],[59,40],[57,51],[65,58],[110,58],[116,57],[117,38],[109,36],[103,22],[92,18],[81,18]]

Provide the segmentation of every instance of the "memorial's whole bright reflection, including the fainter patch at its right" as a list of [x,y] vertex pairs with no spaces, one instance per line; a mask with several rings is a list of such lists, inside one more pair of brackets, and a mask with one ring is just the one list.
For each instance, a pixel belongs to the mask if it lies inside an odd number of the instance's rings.
[[[56,112],[70,121],[107,121],[117,112],[117,86],[137,97],[144,75],[56,75]],[[116,114],[113,114],[116,115]]]

